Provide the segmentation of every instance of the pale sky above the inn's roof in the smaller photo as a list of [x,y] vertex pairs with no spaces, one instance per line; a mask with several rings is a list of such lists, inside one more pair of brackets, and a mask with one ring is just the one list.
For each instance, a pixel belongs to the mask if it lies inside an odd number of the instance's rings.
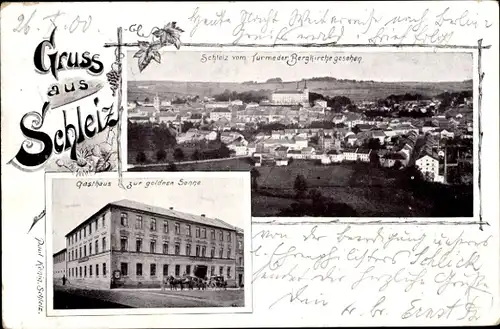
[[[181,176],[178,176],[181,177]],[[201,180],[197,187],[178,186],[178,179],[167,179],[175,182],[173,186],[132,188],[124,190],[117,185],[117,179],[99,179],[100,182],[111,182],[111,187],[77,188],[78,181],[95,181],[89,178],[54,178],[52,181],[52,236],[53,253],[65,248],[65,235],[92,214],[109,202],[122,199],[143,202],[163,208],[174,207],[175,210],[190,214],[205,214],[207,217],[219,218],[226,223],[244,229],[246,221],[250,221],[250,197],[242,198],[243,180],[237,178],[185,178]],[[156,179],[134,179],[135,182],[156,181]],[[131,179],[125,179],[125,182]],[[245,200],[246,199],[246,200]],[[50,202],[50,200],[49,200]],[[248,214],[245,212],[248,209]]]

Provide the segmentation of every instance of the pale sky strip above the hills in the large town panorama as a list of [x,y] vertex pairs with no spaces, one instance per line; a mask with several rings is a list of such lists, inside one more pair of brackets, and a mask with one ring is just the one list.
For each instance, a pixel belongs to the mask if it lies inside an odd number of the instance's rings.
[[[164,51],[161,64],[152,61],[139,73],[138,59],[134,52],[127,54],[127,79],[130,81],[170,80],[170,81],[210,81],[210,82],[264,82],[280,77],[283,81],[295,81],[312,77],[330,76],[338,79],[374,81],[463,81],[472,79],[473,57],[471,53],[457,52],[386,52],[386,53],[335,53],[301,51],[301,56],[353,56],[358,61],[337,61],[329,63],[299,61],[289,66],[285,61],[254,61],[255,54],[288,55],[291,51]],[[205,55],[205,57],[203,57]],[[217,55],[227,60],[209,60]],[[232,56],[246,56],[245,60]],[[224,57],[227,56],[227,57]],[[202,63],[203,58],[207,60]],[[291,62],[290,64],[292,64]]]

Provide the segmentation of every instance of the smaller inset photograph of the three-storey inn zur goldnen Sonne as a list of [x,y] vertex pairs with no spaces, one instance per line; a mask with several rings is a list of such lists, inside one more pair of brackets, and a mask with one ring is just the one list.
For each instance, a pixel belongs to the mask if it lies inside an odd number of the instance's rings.
[[52,181],[54,310],[245,306],[243,180],[178,180]]

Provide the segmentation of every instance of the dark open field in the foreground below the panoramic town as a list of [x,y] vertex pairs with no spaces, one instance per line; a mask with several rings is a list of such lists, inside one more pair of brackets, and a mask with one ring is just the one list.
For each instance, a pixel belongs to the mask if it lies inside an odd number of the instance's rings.
[[[178,165],[179,171],[249,171],[247,159]],[[287,167],[256,167],[258,189],[252,192],[252,215],[279,216],[293,204],[311,204],[295,198],[297,175],[306,178],[308,190],[316,189],[328,202],[345,205],[362,217],[472,217],[472,187],[429,184],[424,189],[405,183],[403,171],[374,168],[369,164],[323,166],[295,160]],[[131,171],[163,171],[162,167]],[[333,207],[324,216],[339,216]]]

